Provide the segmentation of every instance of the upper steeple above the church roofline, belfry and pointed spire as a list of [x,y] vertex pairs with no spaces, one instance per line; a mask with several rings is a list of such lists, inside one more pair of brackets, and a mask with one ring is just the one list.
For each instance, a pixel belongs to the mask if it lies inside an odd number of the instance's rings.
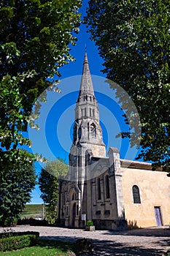
[[80,92],[75,108],[73,145],[86,147],[96,157],[106,156],[102,130],[99,124],[98,105],[93,91],[86,51],[82,67]]

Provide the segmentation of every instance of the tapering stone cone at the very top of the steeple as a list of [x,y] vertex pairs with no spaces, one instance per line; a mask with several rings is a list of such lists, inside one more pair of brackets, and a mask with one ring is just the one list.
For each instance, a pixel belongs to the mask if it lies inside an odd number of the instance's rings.
[[79,93],[77,102],[80,101],[81,96],[88,96],[88,95],[94,97],[93,83],[91,80],[90,69],[88,64],[88,54],[85,48],[85,58],[84,58],[83,68],[82,68],[82,80],[81,80],[80,93]]

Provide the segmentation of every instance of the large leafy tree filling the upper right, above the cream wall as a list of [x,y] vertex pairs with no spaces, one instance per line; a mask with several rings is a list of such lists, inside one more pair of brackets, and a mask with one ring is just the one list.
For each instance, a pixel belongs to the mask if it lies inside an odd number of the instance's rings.
[[[169,3],[90,0],[85,17],[90,37],[104,59],[103,72],[128,92],[139,112],[142,151],[138,159],[152,160],[153,167],[164,165],[164,170],[170,164]],[[134,118],[122,92],[116,94]],[[131,128],[135,129],[135,118]]]

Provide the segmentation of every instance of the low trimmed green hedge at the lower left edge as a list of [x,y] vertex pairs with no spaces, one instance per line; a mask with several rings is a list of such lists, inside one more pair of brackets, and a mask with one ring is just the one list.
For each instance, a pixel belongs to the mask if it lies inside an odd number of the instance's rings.
[[24,232],[1,233],[0,235],[2,236],[2,238],[0,238],[0,251],[12,251],[36,245],[37,238],[39,237],[38,232],[25,232],[26,234],[23,233]]

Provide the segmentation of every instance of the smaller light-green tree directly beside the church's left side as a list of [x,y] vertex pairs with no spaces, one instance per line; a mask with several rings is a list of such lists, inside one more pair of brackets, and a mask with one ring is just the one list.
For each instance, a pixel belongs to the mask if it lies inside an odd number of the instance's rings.
[[47,204],[46,217],[50,223],[55,223],[57,219],[58,176],[66,176],[68,170],[68,165],[60,158],[48,162],[41,170],[39,188],[42,192],[42,200]]

